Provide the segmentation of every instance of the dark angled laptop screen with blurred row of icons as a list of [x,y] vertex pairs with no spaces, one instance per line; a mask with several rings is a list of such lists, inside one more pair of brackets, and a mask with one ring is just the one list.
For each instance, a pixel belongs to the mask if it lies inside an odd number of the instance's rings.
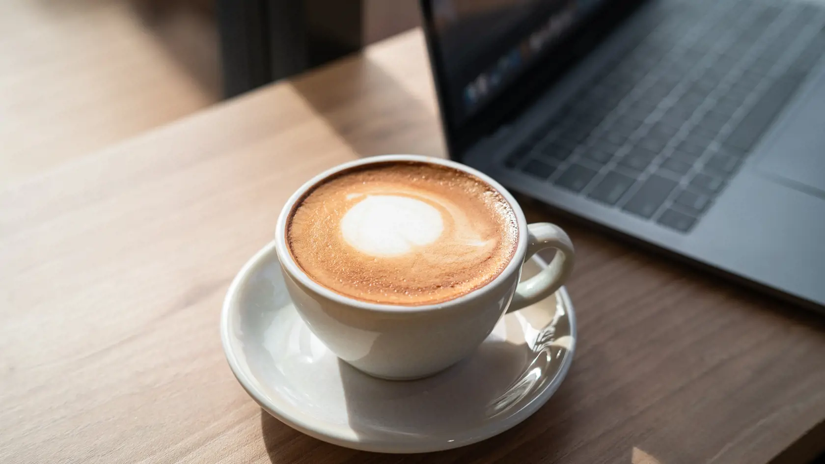
[[512,111],[498,107],[512,99],[511,90],[526,92],[521,83],[537,80],[535,74],[549,80],[548,64],[567,56],[573,32],[587,30],[591,13],[623,2],[628,0],[422,0],[451,154],[457,132],[489,122],[480,121],[489,113]]

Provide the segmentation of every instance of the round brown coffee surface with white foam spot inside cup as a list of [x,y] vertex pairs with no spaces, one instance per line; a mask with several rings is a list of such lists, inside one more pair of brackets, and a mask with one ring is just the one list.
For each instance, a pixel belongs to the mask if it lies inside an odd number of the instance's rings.
[[440,164],[352,168],[293,207],[286,241],[315,282],[389,305],[450,301],[484,286],[516,253],[507,200],[472,174]]

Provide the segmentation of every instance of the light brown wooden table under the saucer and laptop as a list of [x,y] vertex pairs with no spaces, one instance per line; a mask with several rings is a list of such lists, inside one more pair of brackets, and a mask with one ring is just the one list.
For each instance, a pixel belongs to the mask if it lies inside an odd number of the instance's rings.
[[335,447],[244,393],[218,323],[296,187],[443,155],[422,36],[220,104],[0,193],[0,462],[803,462],[825,447],[825,324],[559,221],[580,343],[559,392],[449,452]]

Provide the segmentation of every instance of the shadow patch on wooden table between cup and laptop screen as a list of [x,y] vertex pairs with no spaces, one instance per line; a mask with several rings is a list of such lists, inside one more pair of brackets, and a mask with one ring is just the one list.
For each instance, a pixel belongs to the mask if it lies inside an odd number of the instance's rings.
[[363,55],[296,78],[295,91],[359,156],[444,156],[437,115]]

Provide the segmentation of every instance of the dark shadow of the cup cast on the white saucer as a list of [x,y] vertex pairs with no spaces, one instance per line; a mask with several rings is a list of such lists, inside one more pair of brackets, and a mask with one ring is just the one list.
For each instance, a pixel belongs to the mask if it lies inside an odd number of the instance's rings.
[[[416,440],[449,442],[450,433],[483,428],[521,406],[547,381],[547,372],[559,370],[568,347],[565,340],[558,343],[557,334],[569,334],[568,327],[558,327],[567,320],[547,308],[527,311],[508,315],[469,357],[424,379],[377,381],[338,360],[351,428],[370,439],[408,433]],[[372,349],[380,350],[383,342],[376,339]]]

